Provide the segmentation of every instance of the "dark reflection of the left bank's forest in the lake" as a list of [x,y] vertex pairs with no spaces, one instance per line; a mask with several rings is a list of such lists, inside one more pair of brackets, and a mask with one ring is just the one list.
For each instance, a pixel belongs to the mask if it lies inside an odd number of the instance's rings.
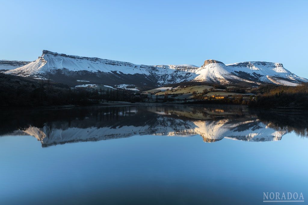
[[[0,135],[15,130],[26,130],[30,126],[47,128],[47,134],[55,129],[69,127],[114,127],[144,125],[156,114],[133,107],[79,107],[60,110],[6,110],[0,116]],[[136,117],[138,116],[138,117]]]

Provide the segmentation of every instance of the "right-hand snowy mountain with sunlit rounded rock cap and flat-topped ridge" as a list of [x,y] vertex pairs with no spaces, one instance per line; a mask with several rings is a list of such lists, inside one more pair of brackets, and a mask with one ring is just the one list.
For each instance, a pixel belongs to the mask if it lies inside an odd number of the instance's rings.
[[[222,84],[236,81],[274,83],[278,85],[298,85],[308,82],[306,78],[298,77],[283,67],[281,63],[271,62],[241,62],[227,64],[216,60],[206,60],[195,81],[220,82]],[[277,81],[271,78],[278,79]],[[282,82],[280,82],[282,81]]]

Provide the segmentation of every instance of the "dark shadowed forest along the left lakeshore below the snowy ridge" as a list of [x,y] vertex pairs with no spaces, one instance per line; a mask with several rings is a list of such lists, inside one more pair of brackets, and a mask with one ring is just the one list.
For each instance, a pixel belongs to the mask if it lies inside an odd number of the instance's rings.
[[89,105],[99,102],[141,101],[130,90],[70,88],[49,80],[35,80],[0,73],[0,106]]

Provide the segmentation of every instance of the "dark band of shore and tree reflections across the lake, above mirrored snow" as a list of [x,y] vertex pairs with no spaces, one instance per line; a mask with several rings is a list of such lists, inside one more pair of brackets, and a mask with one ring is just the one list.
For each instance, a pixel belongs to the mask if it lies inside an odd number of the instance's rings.
[[[164,115],[164,121],[158,120]],[[180,119],[174,120],[174,119]],[[123,126],[165,126],[177,124],[182,128],[189,128],[194,120],[226,120],[226,124],[240,124],[233,131],[249,128],[258,129],[258,121],[277,131],[294,131],[299,136],[308,136],[308,113],[273,112],[248,110],[243,106],[230,105],[155,105],[155,106],[122,106],[122,107],[79,107],[61,110],[6,110],[0,117],[0,135],[30,126],[43,128],[47,137],[52,129],[67,129],[70,127],[111,127]],[[169,124],[169,125],[168,125]]]

